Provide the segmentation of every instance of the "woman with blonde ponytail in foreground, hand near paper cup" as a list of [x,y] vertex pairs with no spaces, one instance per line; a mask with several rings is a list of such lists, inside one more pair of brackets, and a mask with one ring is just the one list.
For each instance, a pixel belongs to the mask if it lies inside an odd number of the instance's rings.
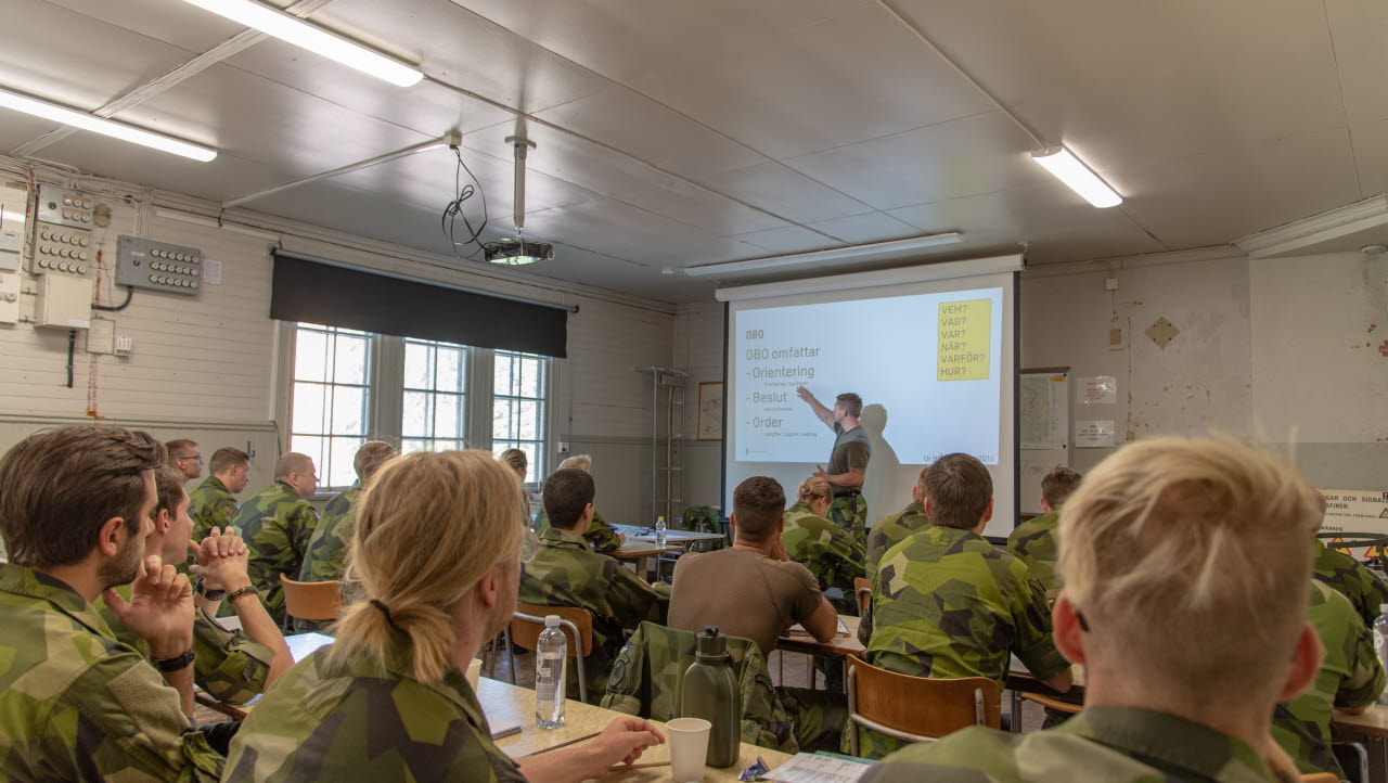
[[361,503],[364,600],[255,707],[228,780],[577,782],[663,741],[640,718],[519,764],[491,741],[462,672],[511,619],[526,540],[515,473],[491,454],[408,454]]

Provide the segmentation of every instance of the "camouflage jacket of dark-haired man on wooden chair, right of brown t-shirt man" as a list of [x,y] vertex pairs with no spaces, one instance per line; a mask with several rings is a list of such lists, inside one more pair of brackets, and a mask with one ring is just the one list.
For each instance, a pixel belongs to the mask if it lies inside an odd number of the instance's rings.
[[[942,525],[887,551],[858,637],[869,664],[916,677],[988,677],[1006,687],[1013,652],[1038,680],[1070,665],[1051,637],[1045,587],[1026,564],[973,530]],[[867,758],[901,744],[867,729],[859,741]]]

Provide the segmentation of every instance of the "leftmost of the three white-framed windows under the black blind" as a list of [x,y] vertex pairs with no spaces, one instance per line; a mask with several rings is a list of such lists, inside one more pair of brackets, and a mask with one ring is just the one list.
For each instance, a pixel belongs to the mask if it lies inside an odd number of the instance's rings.
[[353,458],[368,440],[372,336],[301,323],[294,330],[294,389],[289,447],[314,458],[325,487],[355,479]]

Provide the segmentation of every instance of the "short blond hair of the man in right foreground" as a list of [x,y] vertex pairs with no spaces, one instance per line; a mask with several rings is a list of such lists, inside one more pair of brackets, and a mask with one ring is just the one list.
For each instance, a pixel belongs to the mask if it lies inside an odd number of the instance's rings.
[[1224,437],[1135,443],[1065,503],[1065,596],[1094,648],[1152,687],[1266,696],[1306,623],[1317,521],[1312,489],[1264,453]]

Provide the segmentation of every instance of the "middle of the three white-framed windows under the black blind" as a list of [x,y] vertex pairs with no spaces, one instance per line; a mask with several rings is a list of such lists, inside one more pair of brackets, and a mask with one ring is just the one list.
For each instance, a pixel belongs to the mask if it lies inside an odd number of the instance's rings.
[[466,448],[468,348],[405,340],[401,451]]

